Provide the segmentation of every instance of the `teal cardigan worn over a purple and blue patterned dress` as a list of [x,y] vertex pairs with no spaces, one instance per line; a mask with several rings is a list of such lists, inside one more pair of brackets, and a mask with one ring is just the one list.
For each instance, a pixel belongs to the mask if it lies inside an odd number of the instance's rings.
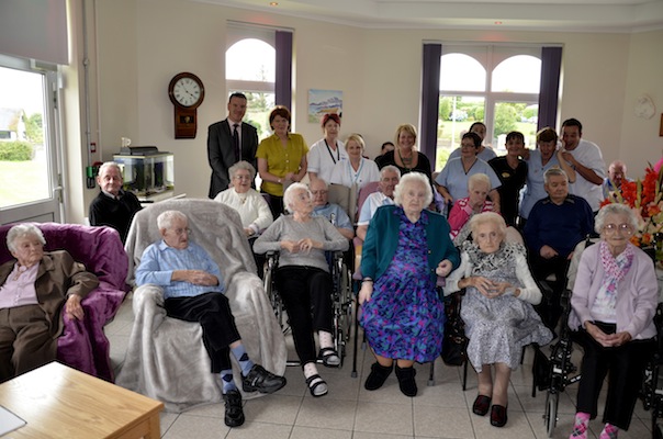
[[[361,251],[361,274],[364,278],[377,280],[394,259],[398,246],[398,227],[401,215],[396,212],[398,206],[386,205],[375,211],[369,223],[366,241]],[[432,282],[437,280],[435,269],[438,263],[449,259],[453,264],[452,271],[460,264],[458,249],[449,238],[449,223],[435,212],[423,211],[419,221],[426,221],[426,241],[428,243],[428,271]]]

